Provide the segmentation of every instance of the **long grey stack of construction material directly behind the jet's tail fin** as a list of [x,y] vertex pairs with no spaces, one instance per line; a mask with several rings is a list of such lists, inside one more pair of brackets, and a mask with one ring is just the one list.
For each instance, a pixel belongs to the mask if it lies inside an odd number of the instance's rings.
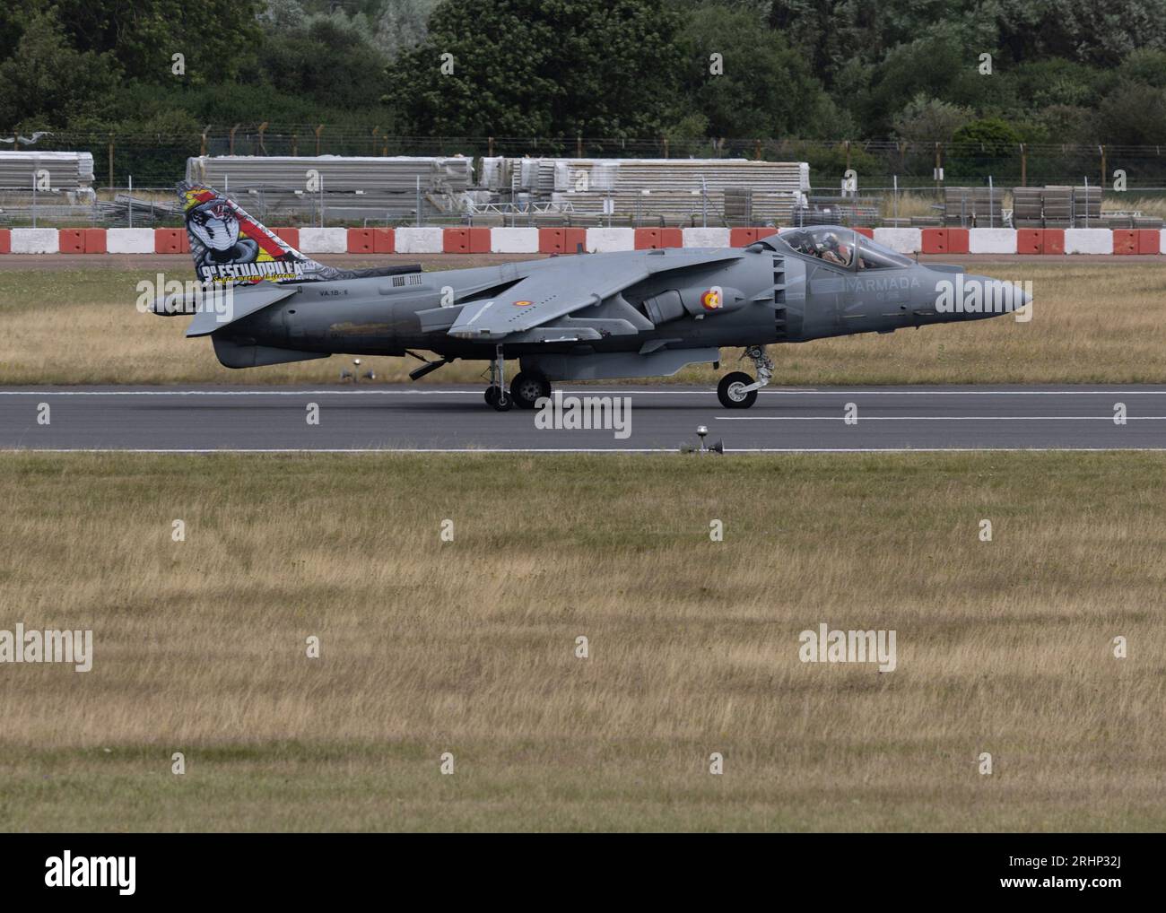
[[255,218],[350,225],[458,216],[472,183],[463,156],[204,155],[187,180],[230,192]]

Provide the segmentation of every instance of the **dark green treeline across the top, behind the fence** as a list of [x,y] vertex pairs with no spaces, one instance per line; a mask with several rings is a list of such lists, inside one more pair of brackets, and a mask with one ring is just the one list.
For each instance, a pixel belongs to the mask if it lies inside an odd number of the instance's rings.
[[[1166,141],[1166,0],[8,0],[0,129]],[[10,148],[0,146],[0,148]]]

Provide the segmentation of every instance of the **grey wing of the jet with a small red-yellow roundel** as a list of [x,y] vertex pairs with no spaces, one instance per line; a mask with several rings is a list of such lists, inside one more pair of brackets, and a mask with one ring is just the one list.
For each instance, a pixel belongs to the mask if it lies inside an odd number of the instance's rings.
[[598,304],[651,275],[740,257],[740,251],[726,248],[712,253],[677,250],[659,257],[628,257],[621,261],[600,261],[585,255],[564,258],[554,267],[535,271],[498,297],[463,305],[449,335],[463,339],[504,339]]

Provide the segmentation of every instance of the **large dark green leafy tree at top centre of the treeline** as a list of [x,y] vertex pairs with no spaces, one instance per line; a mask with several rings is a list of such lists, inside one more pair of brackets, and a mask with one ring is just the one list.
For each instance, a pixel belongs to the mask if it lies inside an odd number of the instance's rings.
[[385,100],[423,134],[658,135],[680,21],[662,0],[445,0]]

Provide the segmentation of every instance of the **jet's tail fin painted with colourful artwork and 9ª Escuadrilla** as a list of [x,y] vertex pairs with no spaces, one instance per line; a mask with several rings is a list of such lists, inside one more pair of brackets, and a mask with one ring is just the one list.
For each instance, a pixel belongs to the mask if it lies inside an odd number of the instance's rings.
[[180,183],[178,201],[202,282],[312,282],[340,272],[300,253],[233,199],[204,184]]

